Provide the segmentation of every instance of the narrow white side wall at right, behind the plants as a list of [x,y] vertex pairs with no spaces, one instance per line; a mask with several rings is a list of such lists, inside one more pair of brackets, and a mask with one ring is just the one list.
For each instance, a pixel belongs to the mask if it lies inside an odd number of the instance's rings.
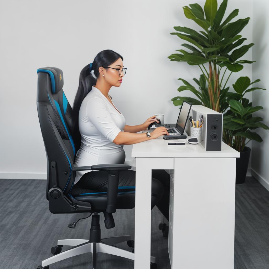
[[[262,110],[257,111],[255,116],[263,118],[263,122],[269,126],[269,80],[268,80],[268,60],[269,60],[269,3],[263,0],[255,0],[253,3],[253,59],[257,62],[253,64],[253,79],[261,79],[259,85],[267,89],[256,90],[252,93],[253,105],[261,105]],[[269,190],[269,131],[262,128],[255,130],[263,142],[252,142],[252,175]]]

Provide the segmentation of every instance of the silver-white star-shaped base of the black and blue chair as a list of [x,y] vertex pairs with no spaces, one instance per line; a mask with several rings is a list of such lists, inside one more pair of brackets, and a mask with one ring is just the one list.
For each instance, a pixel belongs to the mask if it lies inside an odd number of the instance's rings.
[[[98,252],[108,253],[116,255],[119,257],[134,260],[134,253],[127,250],[120,249],[119,247],[112,246],[117,243],[125,242],[131,240],[131,236],[115,236],[110,238],[101,239],[100,242],[90,242],[86,239],[63,239],[58,240],[58,246],[74,246],[69,250],[56,254],[42,261],[43,268],[49,268],[49,265],[56,263],[57,261],[62,261],[70,257],[74,257],[83,253],[92,253],[93,257],[93,269],[96,269],[96,256]],[[150,257],[150,262],[155,263],[155,257]]]

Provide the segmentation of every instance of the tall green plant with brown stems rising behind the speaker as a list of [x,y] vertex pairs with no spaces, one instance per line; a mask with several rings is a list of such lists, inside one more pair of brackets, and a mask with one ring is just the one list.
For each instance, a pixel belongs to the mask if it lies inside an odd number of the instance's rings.
[[[224,0],[218,9],[217,0],[206,0],[204,9],[199,4],[183,7],[185,16],[197,23],[201,31],[175,26],[174,29],[178,32],[170,34],[187,41],[188,43],[182,46],[188,51],[178,49],[180,53],[172,54],[168,58],[171,61],[196,65],[200,68],[202,75],[199,79],[193,79],[200,91],[197,90],[197,86],[194,87],[186,80],[179,78],[184,85],[180,86],[178,91],[192,91],[197,99],[177,96],[171,99],[175,106],[181,105],[185,100],[193,105],[204,105],[223,113],[229,106],[226,97],[231,95],[228,93],[229,87],[226,87],[229,77],[232,72],[242,70],[242,64],[253,63],[253,61],[238,60],[254,45],[253,43],[242,45],[246,38],[239,35],[250,18],[230,22],[238,15],[238,9],[235,9],[223,20],[227,3],[228,0]],[[229,75],[224,79],[226,72],[227,74],[229,72]]]

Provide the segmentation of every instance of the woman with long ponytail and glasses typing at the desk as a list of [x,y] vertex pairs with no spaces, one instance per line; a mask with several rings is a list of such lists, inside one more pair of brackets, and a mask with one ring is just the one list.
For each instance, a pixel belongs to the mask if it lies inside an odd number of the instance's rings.
[[[123,145],[169,134],[165,127],[156,128],[151,132],[150,138],[146,133],[137,134],[147,130],[150,123],[158,122],[154,119],[155,116],[148,118],[141,125],[125,125],[124,116],[116,109],[108,95],[112,86],[121,85],[126,73],[122,60],[123,57],[117,52],[107,49],[99,52],[93,63],[86,65],[80,73],[72,121],[73,133],[79,128],[81,134],[81,146],[76,154],[75,166],[124,164]],[[77,171],[73,189],[76,186],[104,192],[107,190],[107,173]],[[135,171],[125,170],[119,173],[119,189],[124,189],[124,186],[127,186],[128,190],[135,190]],[[152,170],[151,209],[155,205],[169,219],[169,174],[164,170]]]

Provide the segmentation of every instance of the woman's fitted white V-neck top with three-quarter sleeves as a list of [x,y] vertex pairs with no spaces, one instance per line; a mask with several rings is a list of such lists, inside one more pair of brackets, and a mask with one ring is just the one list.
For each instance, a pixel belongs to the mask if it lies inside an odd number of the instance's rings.
[[[76,154],[75,167],[124,164],[123,145],[116,145],[113,140],[119,132],[124,132],[125,118],[112,104],[94,86],[83,99],[79,109],[81,146]],[[74,184],[89,171],[77,171]]]

